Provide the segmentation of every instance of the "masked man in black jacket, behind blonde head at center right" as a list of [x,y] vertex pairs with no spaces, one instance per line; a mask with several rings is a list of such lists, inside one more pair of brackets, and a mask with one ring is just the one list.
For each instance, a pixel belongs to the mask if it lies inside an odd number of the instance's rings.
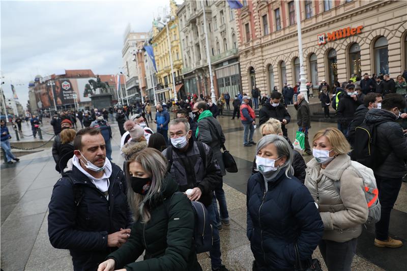
[[259,125],[266,123],[271,117],[276,118],[281,123],[281,130],[283,131],[283,136],[287,135],[287,125],[291,119],[287,109],[281,102],[281,93],[273,92],[271,94],[270,100],[259,111]]

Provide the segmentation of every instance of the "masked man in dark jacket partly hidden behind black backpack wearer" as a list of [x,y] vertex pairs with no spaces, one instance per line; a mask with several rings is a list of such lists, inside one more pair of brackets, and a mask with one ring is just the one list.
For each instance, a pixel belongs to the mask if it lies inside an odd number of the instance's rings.
[[365,120],[367,111],[372,108],[382,108],[382,95],[380,93],[368,93],[365,98],[363,99],[363,104],[359,105],[359,107],[355,111],[355,115],[351,124],[349,125],[349,129],[347,131],[347,141],[353,146],[355,142],[355,129],[359,125],[363,123]]

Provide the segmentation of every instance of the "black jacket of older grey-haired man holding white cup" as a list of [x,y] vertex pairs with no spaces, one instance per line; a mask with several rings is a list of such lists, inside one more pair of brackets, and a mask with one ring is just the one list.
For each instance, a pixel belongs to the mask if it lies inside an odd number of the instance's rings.
[[[222,173],[212,149],[205,143],[205,160],[199,153],[196,142],[189,139],[188,148],[181,152],[178,148],[172,147],[172,165],[169,169],[171,176],[180,185],[180,191],[198,187],[202,191],[199,201],[205,206],[212,204],[213,190],[222,182]],[[162,154],[166,157],[168,148]]]

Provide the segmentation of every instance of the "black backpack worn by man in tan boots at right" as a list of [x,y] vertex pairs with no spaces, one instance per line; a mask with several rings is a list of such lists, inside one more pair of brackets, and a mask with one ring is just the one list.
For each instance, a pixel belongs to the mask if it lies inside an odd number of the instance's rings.
[[375,169],[386,159],[387,155],[380,152],[377,146],[377,126],[383,122],[366,124],[366,120],[360,126],[355,128],[354,149],[351,153],[351,159],[362,165]]

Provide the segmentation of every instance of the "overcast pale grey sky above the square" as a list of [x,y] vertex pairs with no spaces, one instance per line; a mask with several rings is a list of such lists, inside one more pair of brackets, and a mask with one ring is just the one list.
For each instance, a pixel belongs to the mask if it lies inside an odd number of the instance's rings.
[[0,5],[3,89],[11,98],[12,82],[18,101],[25,107],[28,82],[37,74],[46,76],[64,69],[117,73],[122,66],[126,26],[130,23],[132,31],[148,32],[153,14],[157,16],[159,7],[169,7],[169,0],[2,0]]

